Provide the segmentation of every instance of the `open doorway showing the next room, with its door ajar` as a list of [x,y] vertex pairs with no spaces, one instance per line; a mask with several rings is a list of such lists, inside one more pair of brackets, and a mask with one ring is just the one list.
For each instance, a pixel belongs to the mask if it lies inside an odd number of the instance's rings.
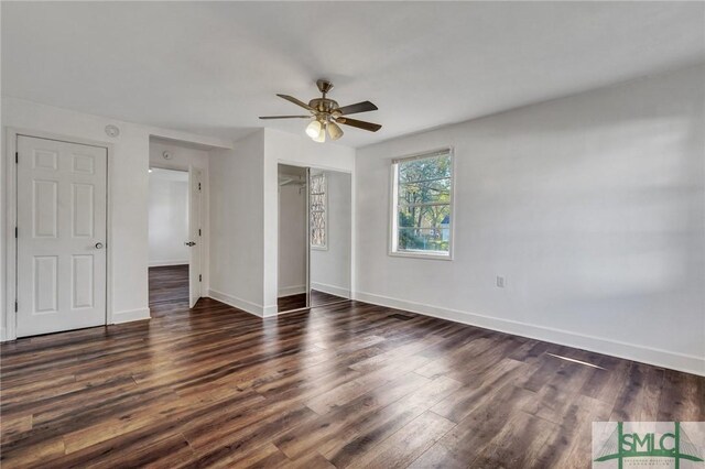
[[194,279],[200,275],[194,263],[200,258],[199,182],[193,171],[160,167],[151,167],[149,178],[150,310],[160,315],[192,307],[200,296]]

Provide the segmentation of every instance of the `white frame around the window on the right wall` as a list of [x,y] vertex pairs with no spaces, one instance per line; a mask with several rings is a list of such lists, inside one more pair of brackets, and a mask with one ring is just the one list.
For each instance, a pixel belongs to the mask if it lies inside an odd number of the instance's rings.
[[[399,251],[398,249],[398,223],[399,223],[399,163],[403,163],[412,160],[425,160],[434,156],[448,155],[451,157],[451,227],[448,230],[448,253],[442,251]],[[390,164],[390,216],[389,216],[389,252],[388,254],[395,258],[414,258],[414,259],[431,259],[438,261],[452,261],[453,260],[453,244],[455,243],[455,153],[452,146],[445,146],[437,150],[431,150],[423,153],[415,153],[411,155],[394,157]]]

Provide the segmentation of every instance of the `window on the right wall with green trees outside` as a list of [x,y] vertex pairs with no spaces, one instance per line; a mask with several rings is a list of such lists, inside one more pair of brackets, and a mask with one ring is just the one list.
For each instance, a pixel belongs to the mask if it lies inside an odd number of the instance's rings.
[[451,259],[451,149],[394,160],[392,204],[392,254]]

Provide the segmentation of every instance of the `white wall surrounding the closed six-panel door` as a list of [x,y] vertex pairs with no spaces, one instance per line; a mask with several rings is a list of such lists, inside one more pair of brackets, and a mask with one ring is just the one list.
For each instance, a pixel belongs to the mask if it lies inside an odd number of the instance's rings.
[[[105,127],[115,124],[120,129],[118,138],[106,135]],[[23,131],[41,131],[70,140],[89,140],[109,144],[108,182],[110,231],[108,255],[111,265],[112,321],[149,317],[148,307],[148,167],[150,137],[159,135],[204,145],[228,146],[221,139],[139,126],[100,116],[85,114],[15,98],[2,98],[3,138],[8,128]],[[8,142],[2,145],[2,174],[10,160]],[[4,177],[0,178],[0,193],[7,197]],[[7,198],[6,198],[7,200]],[[3,204],[4,210],[4,204]],[[7,214],[7,210],[4,211]],[[2,260],[6,255],[8,220],[2,217]],[[7,265],[7,262],[3,262]],[[6,271],[2,270],[2,287],[6,287]],[[3,290],[4,292],[4,290]],[[6,294],[3,293],[3,298]],[[7,328],[8,302],[2,303],[2,334]]]

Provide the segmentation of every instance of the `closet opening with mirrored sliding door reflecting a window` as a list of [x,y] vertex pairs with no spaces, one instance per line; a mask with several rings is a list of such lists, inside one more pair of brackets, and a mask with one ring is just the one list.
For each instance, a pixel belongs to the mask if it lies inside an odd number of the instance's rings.
[[278,313],[349,301],[350,181],[279,164]]

